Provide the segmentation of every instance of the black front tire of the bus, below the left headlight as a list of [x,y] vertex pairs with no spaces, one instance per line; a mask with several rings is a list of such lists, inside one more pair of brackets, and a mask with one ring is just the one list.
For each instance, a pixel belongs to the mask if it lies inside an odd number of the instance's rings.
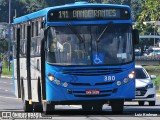
[[52,103],[43,102],[44,114],[52,114],[55,111],[55,105]]

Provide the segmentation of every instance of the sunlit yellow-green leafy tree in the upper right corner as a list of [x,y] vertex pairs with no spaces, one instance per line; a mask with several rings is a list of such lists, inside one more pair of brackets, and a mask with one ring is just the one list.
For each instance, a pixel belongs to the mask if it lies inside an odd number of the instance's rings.
[[[158,28],[155,27],[153,24],[144,24],[145,21],[159,21],[160,20],[160,1],[155,0],[142,0],[142,11],[138,17],[138,26],[137,29],[139,30],[140,34],[144,35],[153,35],[153,31],[155,30],[155,34],[157,33]],[[147,40],[147,42],[146,42]],[[140,40],[139,46],[148,45],[152,46],[154,45],[153,39],[143,39]]]

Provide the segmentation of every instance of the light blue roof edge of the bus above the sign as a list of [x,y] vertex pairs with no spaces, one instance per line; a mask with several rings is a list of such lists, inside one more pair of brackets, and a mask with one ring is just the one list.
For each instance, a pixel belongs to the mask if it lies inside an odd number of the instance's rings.
[[54,6],[54,7],[48,7],[48,8],[45,8],[45,9],[42,9],[42,10],[39,10],[37,12],[33,12],[33,13],[30,13],[30,14],[27,14],[27,15],[24,15],[24,16],[21,16],[21,17],[18,17],[18,18],[15,18],[14,21],[13,21],[13,24],[18,24],[18,23],[21,23],[21,22],[25,22],[25,21],[28,21],[30,19],[35,19],[35,18],[38,18],[38,17],[42,17],[42,16],[46,16],[48,11],[49,10],[52,10],[52,9],[63,9],[63,8],[75,8],[75,7],[117,7],[117,8],[126,8],[128,10],[129,9],[129,6],[127,5],[118,5],[118,4],[93,4],[93,3],[88,3],[88,2],[75,2],[73,4],[66,4],[66,5],[61,5],[61,6]]

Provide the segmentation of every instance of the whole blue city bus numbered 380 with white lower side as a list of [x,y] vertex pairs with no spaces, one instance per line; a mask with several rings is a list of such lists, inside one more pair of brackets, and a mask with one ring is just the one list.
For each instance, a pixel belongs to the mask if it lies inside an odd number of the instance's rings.
[[129,6],[76,2],[14,19],[13,82],[24,111],[82,105],[122,113],[135,98],[134,46]]

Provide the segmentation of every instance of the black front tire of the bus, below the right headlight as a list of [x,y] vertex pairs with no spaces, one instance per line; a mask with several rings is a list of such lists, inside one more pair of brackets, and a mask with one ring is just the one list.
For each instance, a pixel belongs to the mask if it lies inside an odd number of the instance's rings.
[[124,107],[124,100],[123,99],[116,99],[110,101],[112,113],[113,114],[122,114],[123,107]]

